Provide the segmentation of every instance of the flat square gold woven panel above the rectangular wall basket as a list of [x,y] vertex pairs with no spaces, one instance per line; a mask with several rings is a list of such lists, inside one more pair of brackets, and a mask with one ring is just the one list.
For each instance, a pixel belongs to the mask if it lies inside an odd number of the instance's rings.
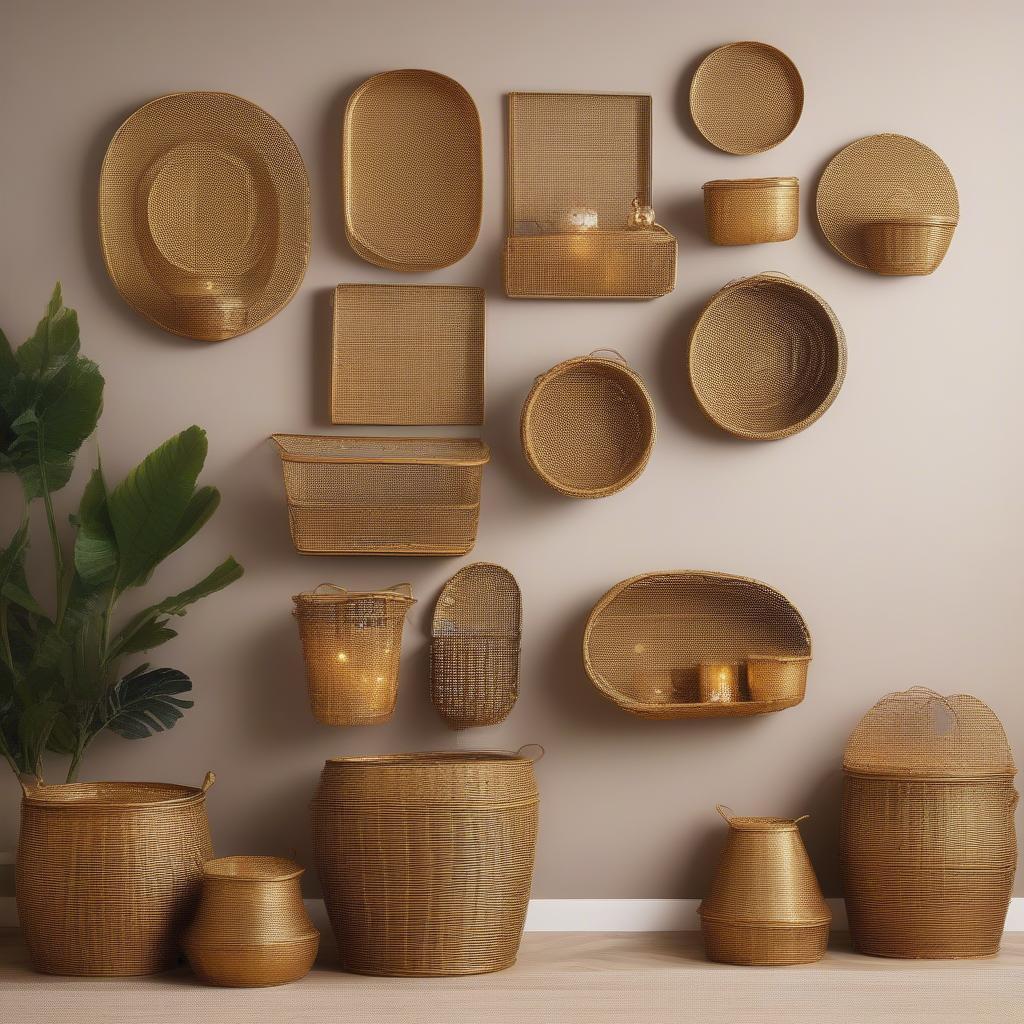
[[483,289],[339,285],[331,420],[483,422]]

